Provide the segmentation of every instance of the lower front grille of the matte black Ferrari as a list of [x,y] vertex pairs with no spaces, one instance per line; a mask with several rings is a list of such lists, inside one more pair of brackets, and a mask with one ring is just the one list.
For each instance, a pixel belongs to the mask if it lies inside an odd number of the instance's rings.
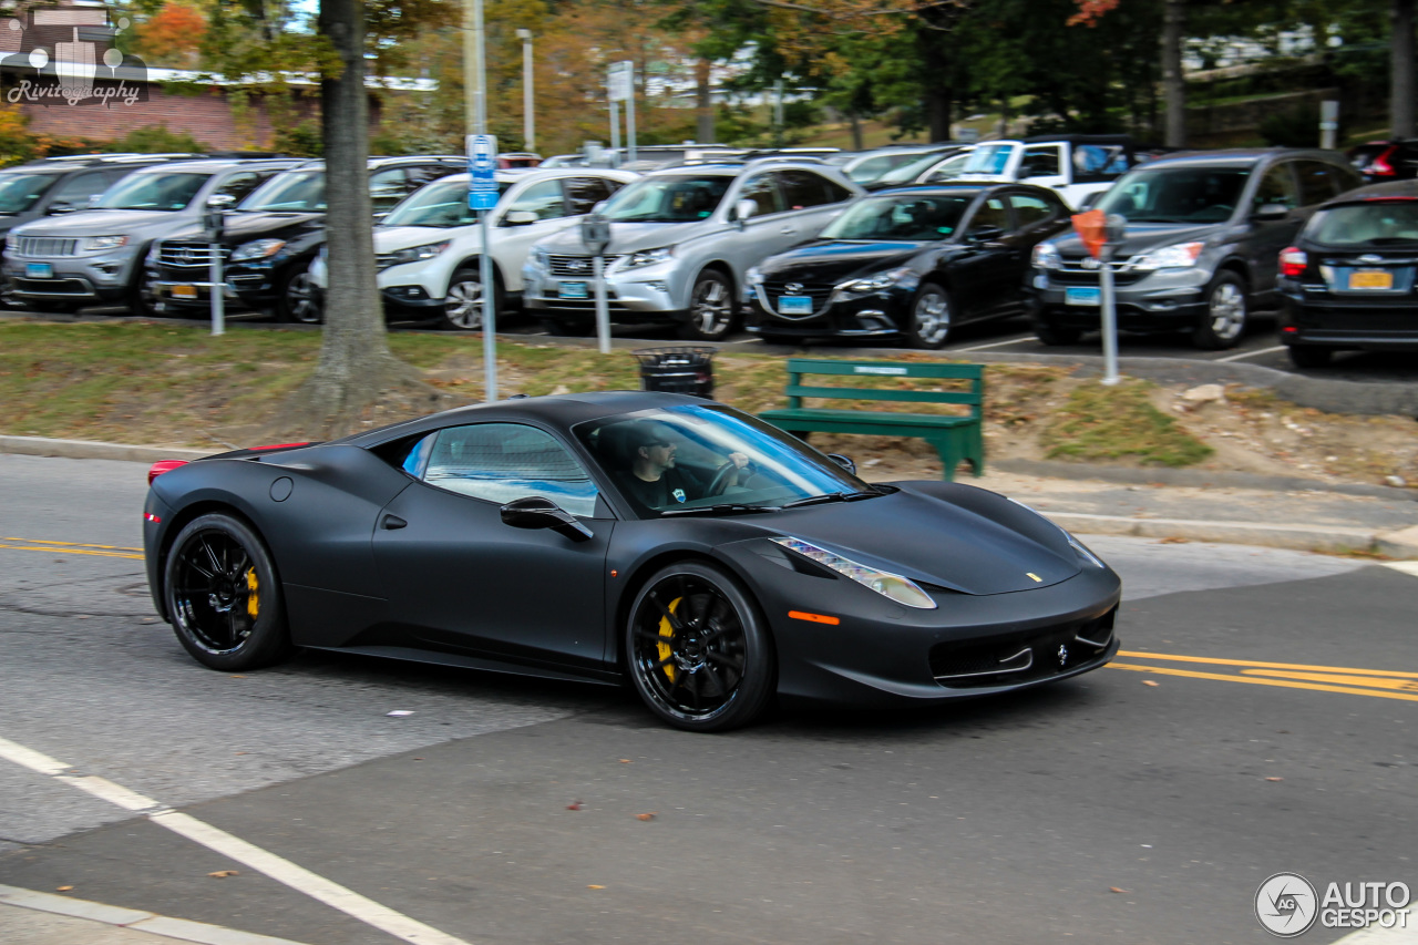
[[984,643],[939,643],[930,648],[930,675],[940,685],[954,690],[1012,685],[1068,673],[1107,650],[1113,641],[1116,613],[1115,607],[1092,620]]

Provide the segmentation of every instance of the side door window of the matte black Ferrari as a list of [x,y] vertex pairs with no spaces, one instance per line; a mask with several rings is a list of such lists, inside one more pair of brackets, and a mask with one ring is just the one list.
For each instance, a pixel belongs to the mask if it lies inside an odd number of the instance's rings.
[[[418,448],[408,458],[415,453]],[[520,423],[440,430],[423,478],[430,485],[498,505],[537,495],[571,515],[596,514],[596,482],[586,468],[550,433]]]

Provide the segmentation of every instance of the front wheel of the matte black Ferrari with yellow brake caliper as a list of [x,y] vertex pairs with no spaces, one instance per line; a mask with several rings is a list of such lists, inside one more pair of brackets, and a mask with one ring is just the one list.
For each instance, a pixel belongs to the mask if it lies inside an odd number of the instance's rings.
[[698,560],[661,568],[635,595],[625,661],[649,711],[689,732],[747,725],[777,680],[759,606],[727,572]]

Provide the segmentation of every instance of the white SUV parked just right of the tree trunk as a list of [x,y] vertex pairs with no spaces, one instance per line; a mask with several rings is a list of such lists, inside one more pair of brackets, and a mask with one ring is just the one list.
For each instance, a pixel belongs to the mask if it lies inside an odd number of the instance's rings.
[[[498,206],[488,219],[496,298],[522,292],[522,264],[537,240],[580,220],[640,175],[605,167],[498,172]],[[379,288],[394,318],[437,318],[448,328],[482,328],[482,227],[468,209],[468,175],[441,177],[406,197],[374,230]],[[326,288],[323,254],[311,280]]]

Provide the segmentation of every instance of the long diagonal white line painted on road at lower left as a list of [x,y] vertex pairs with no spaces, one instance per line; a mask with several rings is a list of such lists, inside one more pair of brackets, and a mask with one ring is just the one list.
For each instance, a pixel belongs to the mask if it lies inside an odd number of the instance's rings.
[[33,772],[48,775],[55,780],[85,790],[125,810],[147,812],[147,819],[157,826],[166,827],[194,843],[200,843],[208,850],[214,850],[237,863],[242,863],[257,873],[264,873],[296,892],[303,892],[330,908],[339,910],[367,925],[373,925],[381,932],[389,932],[394,938],[410,942],[410,945],[468,945],[461,938],[440,932],[431,925],[424,925],[418,919],[396,912],[353,890],[316,875],[284,857],[278,857],[196,817],[170,810],[159,802],[132,792],[122,785],[115,785],[95,775],[77,775],[72,765],[55,761],[31,748],[0,738],[0,758],[14,762],[21,768],[28,768]]

